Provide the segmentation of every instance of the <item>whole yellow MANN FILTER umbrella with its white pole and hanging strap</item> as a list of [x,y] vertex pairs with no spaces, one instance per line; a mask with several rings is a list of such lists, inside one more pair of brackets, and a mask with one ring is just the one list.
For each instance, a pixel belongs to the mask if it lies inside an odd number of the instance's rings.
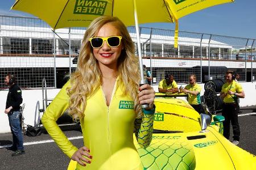
[[228,2],[233,0],[16,0],[11,9],[38,16],[53,29],[87,27],[101,15],[117,16],[125,25],[135,25],[143,79],[138,23],[175,22],[176,48],[179,18]]

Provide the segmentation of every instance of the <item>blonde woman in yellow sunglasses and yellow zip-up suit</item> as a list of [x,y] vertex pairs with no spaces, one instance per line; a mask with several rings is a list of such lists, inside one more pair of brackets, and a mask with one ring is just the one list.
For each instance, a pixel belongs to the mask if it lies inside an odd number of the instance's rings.
[[[76,169],[142,169],[133,133],[141,147],[152,139],[155,91],[139,87],[138,59],[125,25],[111,16],[90,24],[77,69],[47,107],[42,122]],[[141,104],[149,107],[142,109]],[[56,124],[69,109],[79,118],[84,147],[76,148]]]

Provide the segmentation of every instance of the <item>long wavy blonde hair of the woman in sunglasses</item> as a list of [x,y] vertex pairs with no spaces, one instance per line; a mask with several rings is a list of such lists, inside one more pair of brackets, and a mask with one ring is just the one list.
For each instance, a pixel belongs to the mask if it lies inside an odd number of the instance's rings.
[[123,95],[130,95],[134,101],[134,111],[137,117],[142,116],[139,104],[139,63],[135,57],[134,42],[131,40],[126,26],[116,17],[100,16],[93,20],[82,40],[81,52],[77,61],[77,69],[71,75],[71,87],[67,88],[69,99],[69,114],[76,119],[84,117],[86,99],[92,96],[102,84],[102,74],[97,59],[93,56],[93,48],[89,38],[95,37],[106,23],[112,23],[122,36],[123,50],[118,58],[118,84],[123,86]]

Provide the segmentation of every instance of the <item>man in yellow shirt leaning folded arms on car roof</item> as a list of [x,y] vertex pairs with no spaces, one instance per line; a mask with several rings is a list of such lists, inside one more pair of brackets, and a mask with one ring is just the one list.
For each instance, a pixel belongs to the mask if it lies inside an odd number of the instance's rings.
[[174,80],[174,75],[166,74],[163,80],[159,82],[158,91],[160,93],[177,93],[179,89],[177,88],[177,83]]

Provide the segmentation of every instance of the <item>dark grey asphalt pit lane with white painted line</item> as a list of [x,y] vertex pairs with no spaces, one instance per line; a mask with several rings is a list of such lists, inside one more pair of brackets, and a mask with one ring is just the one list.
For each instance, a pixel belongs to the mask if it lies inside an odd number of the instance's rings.
[[[238,146],[256,155],[256,114],[243,116],[246,113],[256,113],[256,106],[243,107],[241,111],[242,113],[238,117],[241,130],[240,144]],[[74,137],[75,139],[71,140],[73,145],[81,147],[83,141],[79,128],[71,129],[68,127],[67,129],[69,130],[64,131],[65,135],[68,138]],[[232,135],[231,131],[230,140]],[[63,154],[54,142],[47,140],[51,140],[48,134],[42,134],[38,137],[24,136],[26,154],[12,157],[13,151],[3,147],[11,145],[11,133],[0,134],[0,169],[67,169],[70,159]]]

